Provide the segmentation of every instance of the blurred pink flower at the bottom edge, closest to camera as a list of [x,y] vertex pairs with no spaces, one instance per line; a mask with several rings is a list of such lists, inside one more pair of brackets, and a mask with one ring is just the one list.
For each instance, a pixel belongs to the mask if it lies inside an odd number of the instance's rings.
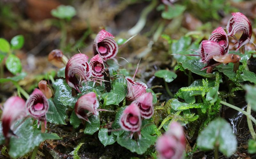
[[156,141],[159,159],[181,159],[186,148],[182,126],[172,123],[169,130]]

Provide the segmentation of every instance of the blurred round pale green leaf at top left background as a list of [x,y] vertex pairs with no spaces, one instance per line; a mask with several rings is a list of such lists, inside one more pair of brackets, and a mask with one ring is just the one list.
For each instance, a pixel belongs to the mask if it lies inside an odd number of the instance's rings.
[[71,20],[76,15],[76,10],[70,5],[60,5],[51,11],[53,17]]

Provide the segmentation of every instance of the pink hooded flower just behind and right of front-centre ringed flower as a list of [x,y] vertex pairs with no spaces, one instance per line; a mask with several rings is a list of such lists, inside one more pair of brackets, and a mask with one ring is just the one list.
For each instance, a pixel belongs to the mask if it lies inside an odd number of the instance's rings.
[[138,99],[136,99],[132,103],[138,105],[141,117],[149,119],[154,114],[153,95],[151,92],[142,94]]

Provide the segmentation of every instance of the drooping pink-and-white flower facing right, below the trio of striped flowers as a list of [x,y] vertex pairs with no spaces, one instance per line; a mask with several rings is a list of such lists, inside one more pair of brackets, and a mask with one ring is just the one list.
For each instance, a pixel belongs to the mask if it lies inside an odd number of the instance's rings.
[[[78,118],[89,121],[88,115],[99,115],[97,108],[99,107],[99,101],[94,92],[87,93],[81,96],[75,104],[75,112]],[[89,111],[85,113],[85,110]]]

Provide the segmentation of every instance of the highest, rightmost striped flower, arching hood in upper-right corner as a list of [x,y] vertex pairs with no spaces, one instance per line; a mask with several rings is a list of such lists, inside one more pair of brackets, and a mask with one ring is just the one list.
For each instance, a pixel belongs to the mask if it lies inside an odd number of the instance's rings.
[[252,37],[252,25],[249,19],[241,12],[231,13],[232,17],[227,24],[228,36],[235,37],[237,32],[242,31],[243,34],[238,40],[238,47],[236,51],[247,44]]

